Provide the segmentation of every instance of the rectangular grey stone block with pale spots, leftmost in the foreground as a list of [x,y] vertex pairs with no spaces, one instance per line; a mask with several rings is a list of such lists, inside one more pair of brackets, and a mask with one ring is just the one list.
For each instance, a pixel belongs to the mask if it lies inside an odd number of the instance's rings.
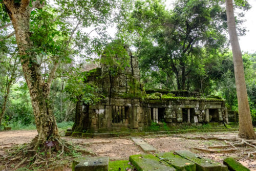
[[[75,165],[76,162],[79,163]],[[72,167],[72,171],[108,171],[109,157],[77,158]]]

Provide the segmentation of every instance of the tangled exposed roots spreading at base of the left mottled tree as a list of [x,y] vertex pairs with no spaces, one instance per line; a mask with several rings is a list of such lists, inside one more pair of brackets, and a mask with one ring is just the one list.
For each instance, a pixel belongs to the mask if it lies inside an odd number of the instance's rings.
[[[16,145],[15,147],[8,148],[6,152],[8,156],[5,156],[4,162],[11,167],[15,165],[14,170],[24,165],[30,165],[29,167],[38,165],[49,165],[51,162],[60,159],[63,154],[73,155],[74,153],[82,153],[84,155],[95,156],[94,153],[87,149],[82,149],[79,146],[74,146],[71,143],[61,139],[51,139],[56,141],[56,145],[52,148],[48,148],[45,145],[41,145],[40,148],[34,150],[35,141],[30,144]],[[32,163],[32,164],[31,164]]]

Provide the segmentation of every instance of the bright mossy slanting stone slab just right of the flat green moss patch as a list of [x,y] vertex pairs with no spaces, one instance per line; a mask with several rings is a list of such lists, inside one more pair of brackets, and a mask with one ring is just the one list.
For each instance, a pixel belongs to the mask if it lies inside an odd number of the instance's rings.
[[135,166],[138,171],[152,171],[152,170],[164,170],[174,171],[174,167],[168,165],[164,161],[161,162],[159,158],[149,155],[133,155],[130,156],[129,161]]

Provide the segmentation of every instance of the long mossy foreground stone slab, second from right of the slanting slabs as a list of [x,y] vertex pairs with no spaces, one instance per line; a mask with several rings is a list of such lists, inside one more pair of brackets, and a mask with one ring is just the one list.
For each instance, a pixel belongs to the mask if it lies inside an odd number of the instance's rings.
[[197,154],[189,151],[176,151],[175,154],[194,162],[197,166],[197,171],[227,171],[227,166],[217,163],[214,160],[200,157]]

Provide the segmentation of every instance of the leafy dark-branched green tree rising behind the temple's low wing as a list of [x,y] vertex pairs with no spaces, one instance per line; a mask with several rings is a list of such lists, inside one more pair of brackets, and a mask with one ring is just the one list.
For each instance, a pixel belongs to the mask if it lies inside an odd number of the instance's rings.
[[165,73],[162,83],[167,88],[189,89],[188,78],[200,73],[195,71],[199,56],[226,42],[224,8],[218,2],[194,0],[177,1],[170,11],[161,1],[136,1],[134,6],[127,29],[137,33],[140,68]]

